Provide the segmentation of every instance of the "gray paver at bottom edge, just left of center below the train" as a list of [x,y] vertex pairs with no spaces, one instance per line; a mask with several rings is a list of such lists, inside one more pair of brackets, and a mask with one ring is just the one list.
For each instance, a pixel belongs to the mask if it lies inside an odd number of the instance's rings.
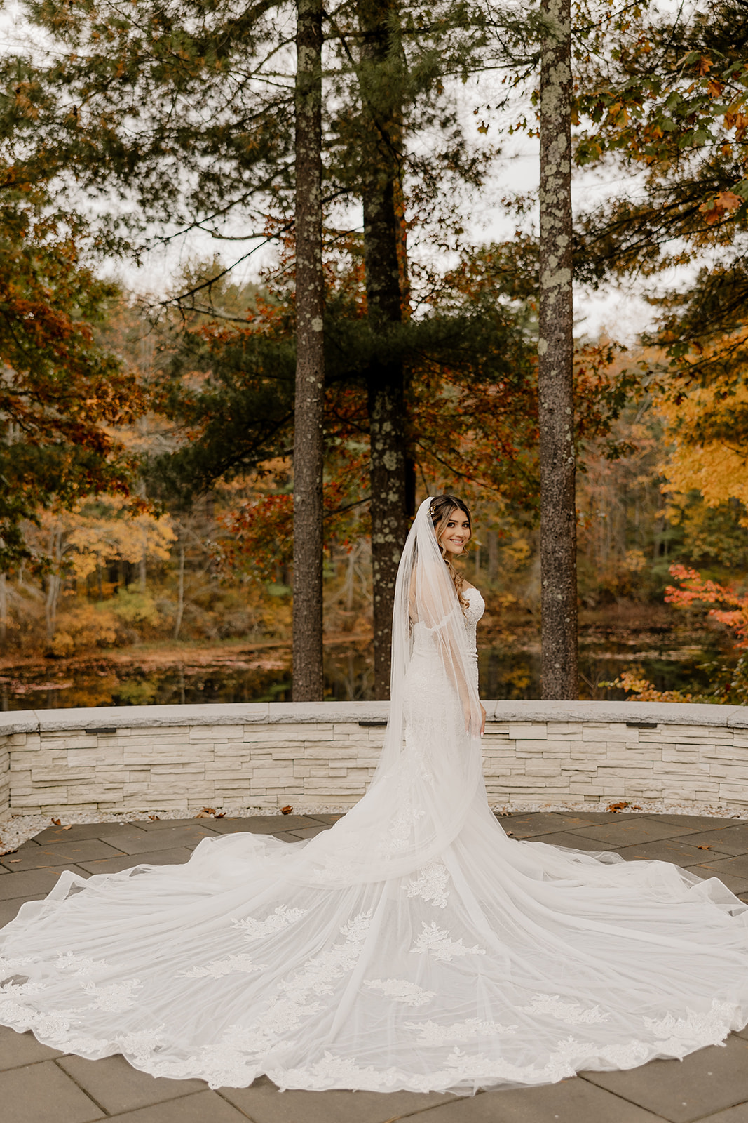
[[[415,1092],[278,1092],[267,1077],[249,1088],[221,1088],[221,1095],[252,1123],[388,1123],[417,1116],[434,1105],[454,1103],[440,1093]],[[424,1116],[424,1123],[431,1113]]]

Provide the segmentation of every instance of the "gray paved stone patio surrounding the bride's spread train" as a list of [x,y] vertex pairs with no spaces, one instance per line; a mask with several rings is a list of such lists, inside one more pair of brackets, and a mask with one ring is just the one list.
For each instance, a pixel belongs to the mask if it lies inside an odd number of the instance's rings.
[[[49,827],[0,858],[0,925],[24,901],[38,901],[63,869],[83,876],[136,862],[186,861],[202,838],[250,830],[295,840],[336,815],[163,820]],[[676,861],[720,877],[748,902],[748,820],[696,815],[546,812],[501,820],[518,839],[627,860]],[[727,1048],[684,1061],[657,1060],[626,1072],[589,1072],[542,1088],[465,1098],[410,1093],[285,1092],[265,1078],[211,1092],[201,1080],[155,1079],[121,1057],[87,1061],[0,1028],[0,1104],[8,1123],[748,1123],[748,1029]]]

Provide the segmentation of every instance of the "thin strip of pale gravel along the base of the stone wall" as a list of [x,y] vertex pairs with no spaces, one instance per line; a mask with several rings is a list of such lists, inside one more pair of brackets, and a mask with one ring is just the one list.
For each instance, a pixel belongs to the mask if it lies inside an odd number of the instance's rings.
[[[334,815],[344,814],[350,807],[340,804],[315,804],[314,806],[294,806],[293,811],[297,815]],[[601,812],[619,811],[627,814],[649,814],[649,815],[705,815],[714,819],[748,819],[748,809],[742,811],[737,807],[714,806],[705,803],[666,803],[663,800],[641,800],[639,803],[626,801],[604,803],[504,803],[493,804],[491,810],[497,814],[528,814],[538,811],[573,811]],[[214,807],[195,811],[194,807],[173,807],[169,811],[71,811],[59,815],[16,815],[6,822],[0,823],[0,855],[10,853],[16,850],[21,842],[34,838],[49,827],[50,823],[62,827],[73,823],[137,823],[149,819],[246,819],[251,815],[277,815],[283,819],[283,812],[274,807]],[[279,828],[281,829],[281,828]]]

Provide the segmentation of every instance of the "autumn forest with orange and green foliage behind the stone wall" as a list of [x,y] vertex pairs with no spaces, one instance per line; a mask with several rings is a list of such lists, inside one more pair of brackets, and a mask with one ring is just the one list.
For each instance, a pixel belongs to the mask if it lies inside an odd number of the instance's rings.
[[[536,200],[501,185],[501,241],[469,217],[507,136],[537,129],[542,10],[327,16],[330,697],[373,687],[377,348],[404,372],[410,512],[442,491],[473,512],[482,693],[538,694]],[[1,704],[289,697],[295,11],[20,13],[38,38],[2,62]],[[575,277],[636,284],[653,308],[626,346],[615,323],[575,340],[581,696],[744,701],[748,8],[572,16],[576,166],[630,184],[575,216]],[[377,99],[394,164],[367,131]],[[385,347],[361,200],[388,159],[400,322]],[[166,291],[112,280],[112,262],[197,232],[220,253],[183,259]],[[253,273],[232,268],[252,253]]]

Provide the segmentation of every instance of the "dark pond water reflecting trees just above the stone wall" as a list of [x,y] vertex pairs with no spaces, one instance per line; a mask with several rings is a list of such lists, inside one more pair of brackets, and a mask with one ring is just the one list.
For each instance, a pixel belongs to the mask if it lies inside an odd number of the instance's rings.
[[[624,670],[641,672],[657,690],[699,692],[714,667],[735,663],[719,633],[672,627],[583,628],[580,636],[580,695],[618,700],[625,692],[607,685]],[[116,659],[40,660],[0,672],[0,709],[45,710],[67,706],[185,704],[196,702],[290,701],[290,651],[207,649],[170,652],[170,661],[137,649]],[[481,696],[541,696],[541,650],[534,636],[487,637],[479,647]],[[721,676],[720,676],[721,677]],[[325,696],[371,697],[373,675],[369,642],[325,647]]]

